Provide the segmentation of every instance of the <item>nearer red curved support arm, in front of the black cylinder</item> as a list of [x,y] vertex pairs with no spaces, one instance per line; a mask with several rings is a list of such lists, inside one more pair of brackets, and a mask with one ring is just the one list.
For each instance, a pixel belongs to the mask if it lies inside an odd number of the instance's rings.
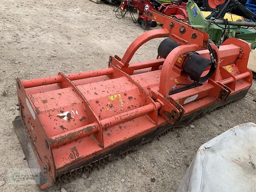
[[171,84],[171,74],[174,63],[178,60],[179,56],[185,52],[192,52],[197,49],[196,44],[190,45],[180,45],[173,49],[169,55],[166,57],[160,75],[160,85],[159,92],[164,95],[164,97],[169,96],[170,84]]

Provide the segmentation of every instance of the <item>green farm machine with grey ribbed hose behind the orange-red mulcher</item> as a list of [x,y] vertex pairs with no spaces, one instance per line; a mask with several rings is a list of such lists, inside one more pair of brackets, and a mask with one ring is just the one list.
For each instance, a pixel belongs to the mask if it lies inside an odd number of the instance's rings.
[[[241,7],[241,9],[242,8],[244,9],[244,7]],[[251,16],[252,19],[256,16],[249,10],[247,11],[248,16]],[[208,20],[205,20],[204,15],[194,1],[188,2],[187,12],[189,16],[189,24],[207,32],[209,34],[209,38],[214,42],[214,44],[220,45],[225,39],[229,37],[236,37],[251,43],[252,49],[255,49],[256,33],[248,29],[248,27],[254,28],[256,26],[254,22],[246,22],[243,20],[228,21],[223,19],[226,14],[225,10],[218,12],[219,14],[214,12],[212,15],[207,17]],[[211,16],[215,16],[216,18],[211,18]]]

